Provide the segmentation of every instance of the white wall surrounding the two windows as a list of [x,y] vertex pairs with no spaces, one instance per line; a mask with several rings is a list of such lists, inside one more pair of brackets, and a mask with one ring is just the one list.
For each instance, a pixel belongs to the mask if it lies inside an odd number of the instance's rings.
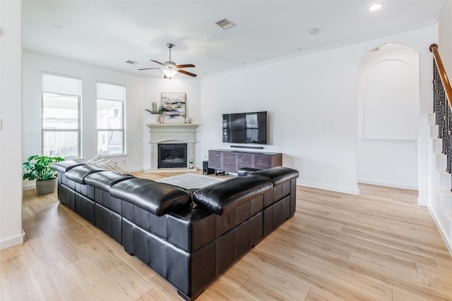
[[126,155],[112,156],[122,168],[141,170],[143,163],[144,80],[115,70],[23,52],[23,160],[41,154],[41,72],[82,78],[82,157],[97,154],[96,81],[126,85]]

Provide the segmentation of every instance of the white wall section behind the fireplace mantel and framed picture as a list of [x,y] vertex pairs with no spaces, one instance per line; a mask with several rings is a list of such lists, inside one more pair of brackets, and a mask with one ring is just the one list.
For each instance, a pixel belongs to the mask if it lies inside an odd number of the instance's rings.
[[[185,77],[185,78],[184,78]],[[188,78],[186,75],[177,74],[172,80],[168,79],[145,79],[145,90],[143,98],[143,170],[150,168],[150,144],[149,144],[149,128],[146,126],[150,123],[149,113],[144,109],[150,109],[151,102],[161,103],[162,92],[185,92],[186,103],[185,113],[191,118],[191,123],[201,123],[201,81],[198,79]],[[196,133],[196,149],[195,166],[202,168],[203,158],[201,154],[201,144],[198,133]]]

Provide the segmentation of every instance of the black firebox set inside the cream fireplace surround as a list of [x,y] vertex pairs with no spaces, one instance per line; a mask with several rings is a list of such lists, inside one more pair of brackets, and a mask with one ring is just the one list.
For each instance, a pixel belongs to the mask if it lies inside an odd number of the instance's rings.
[[158,168],[185,168],[186,143],[158,145]]

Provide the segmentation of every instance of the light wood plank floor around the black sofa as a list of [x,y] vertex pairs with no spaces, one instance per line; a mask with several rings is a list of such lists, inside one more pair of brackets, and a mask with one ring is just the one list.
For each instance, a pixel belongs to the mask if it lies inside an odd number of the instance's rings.
[[[359,190],[297,188],[295,216],[198,300],[452,300],[452,259],[417,192]],[[0,250],[2,301],[182,300],[56,194],[23,193],[23,228],[23,245]]]

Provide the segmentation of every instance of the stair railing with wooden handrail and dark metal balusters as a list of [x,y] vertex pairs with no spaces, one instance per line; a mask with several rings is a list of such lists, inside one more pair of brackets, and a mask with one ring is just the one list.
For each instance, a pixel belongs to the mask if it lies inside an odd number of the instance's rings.
[[430,45],[433,53],[433,105],[436,116],[435,124],[438,125],[438,137],[443,140],[442,154],[446,154],[446,171],[452,170],[452,88],[446,70],[444,69],[441,56],[439,56],[438,45]]

